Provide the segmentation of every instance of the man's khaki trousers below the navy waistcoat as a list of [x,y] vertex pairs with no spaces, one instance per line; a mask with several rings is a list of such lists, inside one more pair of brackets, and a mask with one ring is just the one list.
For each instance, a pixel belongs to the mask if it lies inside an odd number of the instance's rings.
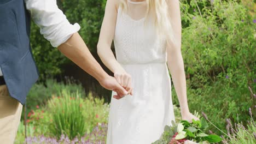
[[0,143],[14,143],[21,112],[22,105],[10,97],[7,86],[0,86]]

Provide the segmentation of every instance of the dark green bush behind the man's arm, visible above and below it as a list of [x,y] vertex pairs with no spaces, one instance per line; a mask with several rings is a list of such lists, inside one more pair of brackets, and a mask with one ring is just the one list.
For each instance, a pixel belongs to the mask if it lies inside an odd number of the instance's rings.
[[[97,1],[57,1],[59,8],[72,24],[79,23],[79,34],[90,51],[96,53],[106,0]],[[31,46],[34,59],[40,72],[40,81],[61,74],[61,65],[71,63],[49,41],[40,34],[35,23],[31,26]]]

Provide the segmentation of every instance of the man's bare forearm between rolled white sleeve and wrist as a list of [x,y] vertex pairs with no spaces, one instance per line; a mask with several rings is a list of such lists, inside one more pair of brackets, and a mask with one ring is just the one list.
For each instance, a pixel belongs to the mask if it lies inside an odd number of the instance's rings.
[[88,47],[78,33],[74,33],[65,43],[61,44],[58,49],[77,64],[84,71],[95,77],[98,81],[105,79],[108,74],[98,64],[96,59],[91,55]]

